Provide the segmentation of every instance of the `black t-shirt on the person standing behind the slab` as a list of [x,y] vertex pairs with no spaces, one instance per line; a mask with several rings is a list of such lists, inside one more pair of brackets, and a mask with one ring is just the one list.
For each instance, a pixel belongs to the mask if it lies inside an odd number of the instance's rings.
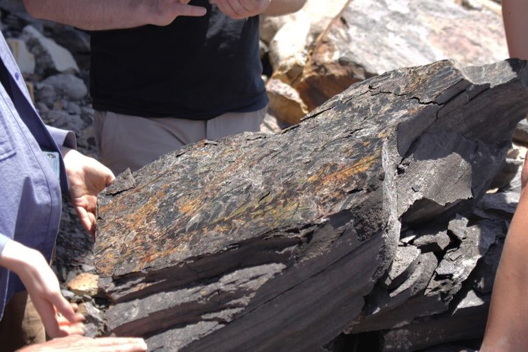
[[208,120],[265,107],[259,17],[232,20],[208,0],[190,3],[206,7],[206,16],[91,33],[95,109]]

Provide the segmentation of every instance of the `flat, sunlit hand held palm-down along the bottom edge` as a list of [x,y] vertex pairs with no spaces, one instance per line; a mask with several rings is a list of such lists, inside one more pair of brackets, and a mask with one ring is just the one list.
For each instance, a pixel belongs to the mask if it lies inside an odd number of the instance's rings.
[[85,338],[68,336],[43,344],[34,344],[17,352],[144,352],[146,344],[141,338]]

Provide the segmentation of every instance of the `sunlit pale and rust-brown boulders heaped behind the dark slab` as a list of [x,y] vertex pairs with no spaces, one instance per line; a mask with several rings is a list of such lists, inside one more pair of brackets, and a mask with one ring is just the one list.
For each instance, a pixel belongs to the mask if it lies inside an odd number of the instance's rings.
[[[352,83],[392,69],[444,58],[469,66],[508,57],[500,6],[490,1],[341,0],[323,9],[326,3],[307,6],[282,27],[281,19],[263,21],[265,28],[280,28],[272,39],[263,36],[273,66],[270,109],[290,124]],[[317,19],[324,30],[314,30]]]

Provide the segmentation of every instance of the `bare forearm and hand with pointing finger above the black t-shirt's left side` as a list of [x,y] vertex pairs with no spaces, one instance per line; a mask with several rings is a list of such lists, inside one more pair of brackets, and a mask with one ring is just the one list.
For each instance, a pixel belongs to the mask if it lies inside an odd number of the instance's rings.
[[168,25],[178,16],[203,16],[206,9],[189,0],[23,0],[38,19],[83,30],[113,30],[140,25]]

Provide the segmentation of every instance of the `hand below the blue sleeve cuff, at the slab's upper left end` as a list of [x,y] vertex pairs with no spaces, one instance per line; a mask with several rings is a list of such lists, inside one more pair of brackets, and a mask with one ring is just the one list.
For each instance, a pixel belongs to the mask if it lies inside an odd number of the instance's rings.
[[63,148],[63,157],[69,182],[69,197],[80,222],[95,237],[97,195],[115,177],[109,168],[96,159],[73,149]]

